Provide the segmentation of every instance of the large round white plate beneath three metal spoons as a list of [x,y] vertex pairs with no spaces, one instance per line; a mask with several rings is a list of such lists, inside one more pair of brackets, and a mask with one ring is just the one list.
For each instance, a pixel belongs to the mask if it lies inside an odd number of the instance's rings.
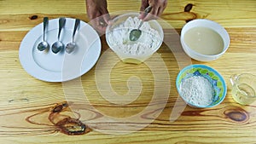
[[[66,18],[66,25],[61,31],[61,42],[67,45],[72,41],[74,19]],[[57,41],[59,19],[49,20],[46,41],[50,47]],[[32,28],[20,43],[21,66],[32,77],[47,82],[64,82],[79,78],[96,64],[101,54],[101,40],[96,31],[81,21],[74,42],[77,48],[67,54],[65,49],[54,54],[49,50],[39,51],[38,43],[43,41],[43,23]]]

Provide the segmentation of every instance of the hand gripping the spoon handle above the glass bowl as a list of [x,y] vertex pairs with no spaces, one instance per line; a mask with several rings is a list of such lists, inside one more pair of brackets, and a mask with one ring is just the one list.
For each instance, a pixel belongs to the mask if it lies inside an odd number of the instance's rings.
[[[145,16],[143,11],[149,5],[152,7],[151,12]],[[142,20],[157,19],[164,12],[164,10],[166,9],[166,6],[167,6],[167,0],[142,0],[142,5],[140,9],[142,13],[140,14],[139,17]]]

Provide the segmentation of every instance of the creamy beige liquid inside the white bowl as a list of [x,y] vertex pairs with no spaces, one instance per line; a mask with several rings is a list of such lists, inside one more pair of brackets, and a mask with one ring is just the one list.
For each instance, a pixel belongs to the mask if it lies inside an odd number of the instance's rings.
[[194,27],[184,34],[190,49],[202,55],[217,55],[224,49],[224,41],[217,32],[207,27]]

